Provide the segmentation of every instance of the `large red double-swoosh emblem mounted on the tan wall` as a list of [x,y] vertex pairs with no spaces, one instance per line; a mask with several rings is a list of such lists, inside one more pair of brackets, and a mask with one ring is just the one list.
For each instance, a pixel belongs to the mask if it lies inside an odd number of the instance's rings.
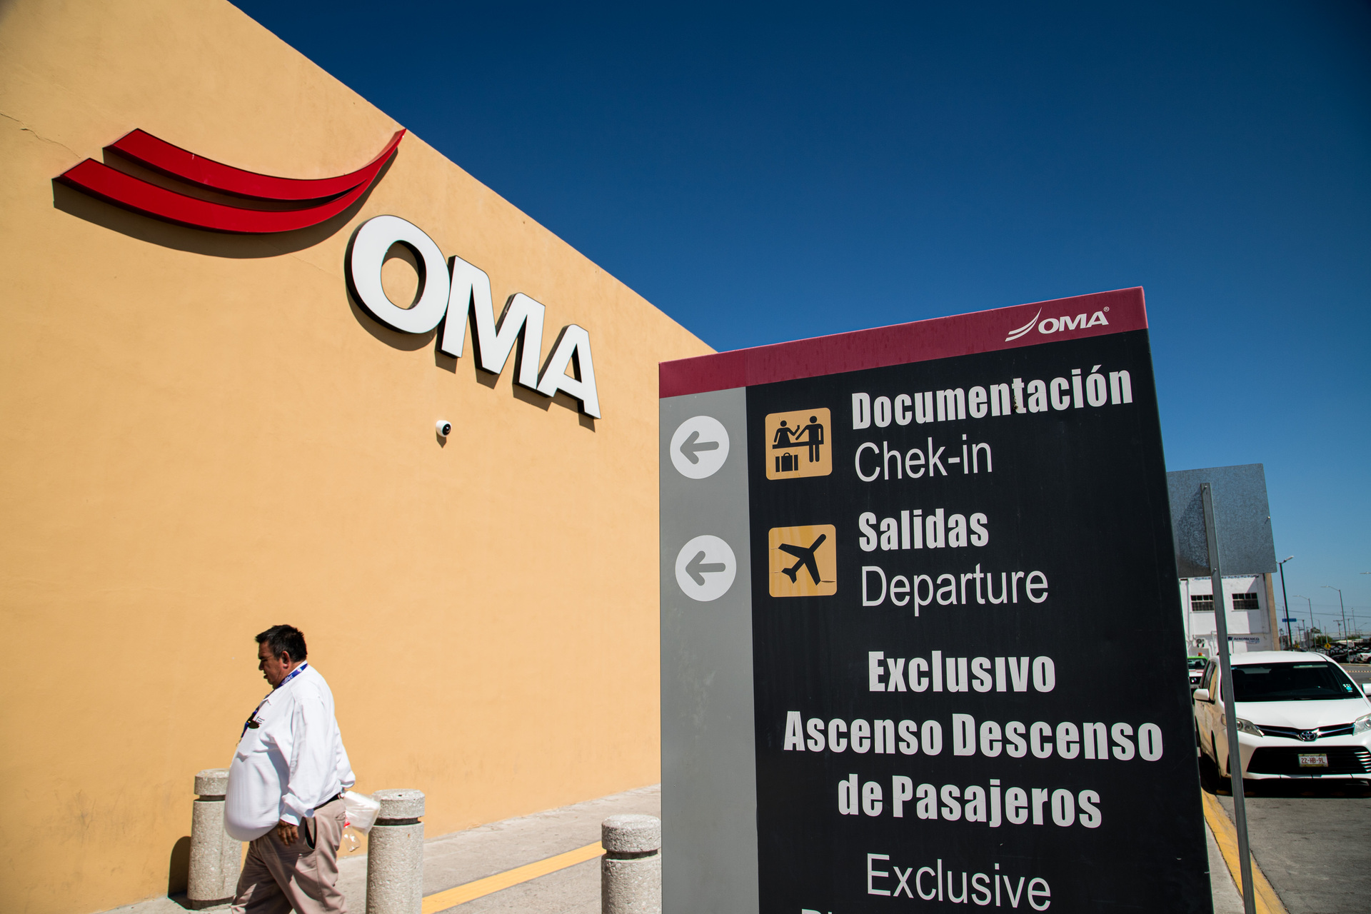
[[195,229],[240,234],[292,232],[318,225],[352,206],[376,182],[376,175],[403,137],[404,130],[396,132],[372,162],[336,178],[277,178],[244,171],[197,156],[143,130],[133,130],[106,147],[107,152],[193,188],[247,200],[289,204],[280,210],[251,210],[202,200],[149,184],[95,159],[63,171],[58,181],[125,210]]

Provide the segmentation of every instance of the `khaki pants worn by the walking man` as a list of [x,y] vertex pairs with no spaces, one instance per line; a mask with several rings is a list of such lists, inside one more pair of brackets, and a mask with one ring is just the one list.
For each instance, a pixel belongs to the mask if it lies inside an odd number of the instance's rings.
[[233,914],[347,914],[337,891],[339,844],[347,810],[343,800],[325,803],[300,824],[299,837],[287,847],[276,829],[248,844]]

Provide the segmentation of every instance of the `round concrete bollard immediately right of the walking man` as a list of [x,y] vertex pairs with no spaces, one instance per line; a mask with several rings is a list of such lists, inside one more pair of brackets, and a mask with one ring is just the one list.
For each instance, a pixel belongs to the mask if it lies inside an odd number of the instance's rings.
[[424,793],[377,791],[366,841],[366,914],[418,914],[424,903]]

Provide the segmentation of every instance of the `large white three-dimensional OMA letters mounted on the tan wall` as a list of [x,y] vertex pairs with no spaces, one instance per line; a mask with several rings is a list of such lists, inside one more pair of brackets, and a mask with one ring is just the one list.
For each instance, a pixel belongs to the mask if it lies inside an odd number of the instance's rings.
[[[395,244],[413,251],[420,264],[422,292],[410,308],[396,306],[381,289],[381,264]],[[580,402],[581,412],[596,419],[600,417],[591,334],[574,323],[562,328],[540,373],[537,359],[543,352],[543,315],[547,308],[520,292],[510,296],[496,322],[491,278],[485,271],[458,256],[446,263],[437,244],[418,226],[393,215],[369,219],[352,236],[347,280],[358,304],[388,328],[402,333],[428,333],[441,323],[437,345],[454,358],[462,356],[466,318],[470,315],[476,359],[483,370],[492,374],[505,369],[510,352],[522,338],[514,382],[547,397],[562,391]]]

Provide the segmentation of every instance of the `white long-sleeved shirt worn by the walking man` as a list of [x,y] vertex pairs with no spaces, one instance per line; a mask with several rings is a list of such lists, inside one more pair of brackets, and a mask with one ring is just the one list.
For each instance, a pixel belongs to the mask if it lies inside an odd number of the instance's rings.
[[251,718],[229,765],[223,828],[240,841],[278,821],[299,825],[356,778],[343,748],[333,692],[307,663],[277,687]]

